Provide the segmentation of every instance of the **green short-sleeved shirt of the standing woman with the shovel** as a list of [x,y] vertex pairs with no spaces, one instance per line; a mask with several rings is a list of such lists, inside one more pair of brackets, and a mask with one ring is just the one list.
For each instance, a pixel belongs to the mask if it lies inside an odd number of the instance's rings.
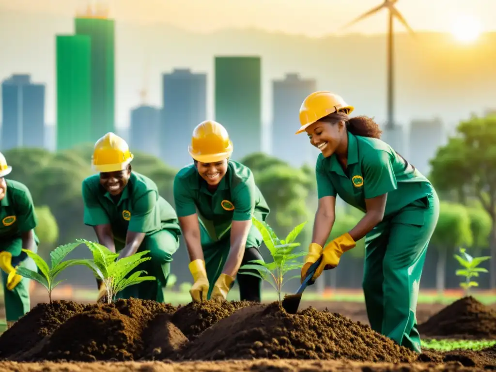
[[320,154],[315,166],[318,197],[339,195],[366,212],[365,199],[387,193],[384,216],[432,193],[432,185],[391,146],[376,138],[348,132],[346,172],[335,154]]

